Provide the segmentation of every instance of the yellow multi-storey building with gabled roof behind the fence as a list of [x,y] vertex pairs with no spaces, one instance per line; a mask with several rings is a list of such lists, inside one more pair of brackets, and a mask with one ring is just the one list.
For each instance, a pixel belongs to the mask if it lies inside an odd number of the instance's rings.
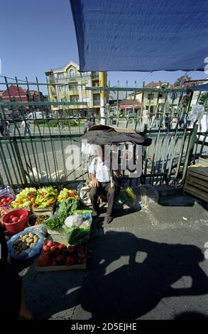
[[[56,68],[45,72],[48,86],[48,94],[51,102],[86,102],[87,106],[68,106],[73,112],[80,112],[84,115],[87,109],[98,114],[103,100],[99,91],[86,90],[86,87],[99,87],[100,72],[79,72],[79,65],[70,61],[63,68]],[[106,72],[104,72],[104,84],[106,85]],[[56,85],[55,85],[56,84]],[[103,84],[103,82],[101,83]],[[55,111],[61,109],[53,106]]]

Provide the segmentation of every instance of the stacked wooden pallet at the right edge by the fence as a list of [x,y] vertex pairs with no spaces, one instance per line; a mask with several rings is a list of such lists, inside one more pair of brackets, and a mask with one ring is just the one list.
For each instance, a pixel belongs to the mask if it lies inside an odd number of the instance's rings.
[[183,189],[208,203],[208,167],[202,165],[190,166],[187,170]]

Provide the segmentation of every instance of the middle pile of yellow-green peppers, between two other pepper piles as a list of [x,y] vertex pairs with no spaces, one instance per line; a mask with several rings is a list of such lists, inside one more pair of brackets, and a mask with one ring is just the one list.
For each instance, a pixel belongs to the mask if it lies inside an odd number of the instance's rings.
[[37,196],[33,202],[35,208],[48,208],[50,205],[55,204],[57,197],[57,190],[53,187],[40,188],[37,190]]

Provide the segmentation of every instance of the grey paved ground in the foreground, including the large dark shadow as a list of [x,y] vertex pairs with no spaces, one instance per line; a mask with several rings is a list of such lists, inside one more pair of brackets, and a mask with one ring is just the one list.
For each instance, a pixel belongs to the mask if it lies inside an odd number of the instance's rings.
[[[199,203],[117,210],[93,227],[87,271],[21,271],[36,318],[208,318],[208,212]],[[165,205],[167,205],[167,201]],[[192,205],[192,206],[186,206]]]

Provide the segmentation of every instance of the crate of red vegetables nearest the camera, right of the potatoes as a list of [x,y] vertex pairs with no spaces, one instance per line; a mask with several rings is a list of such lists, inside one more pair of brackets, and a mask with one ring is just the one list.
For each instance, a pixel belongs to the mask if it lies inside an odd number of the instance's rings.
[[87,259],[86,246],[66,246],[52,240],[44,240],[44,246],[38,259],[39,266],[71,266],[83,264]]

